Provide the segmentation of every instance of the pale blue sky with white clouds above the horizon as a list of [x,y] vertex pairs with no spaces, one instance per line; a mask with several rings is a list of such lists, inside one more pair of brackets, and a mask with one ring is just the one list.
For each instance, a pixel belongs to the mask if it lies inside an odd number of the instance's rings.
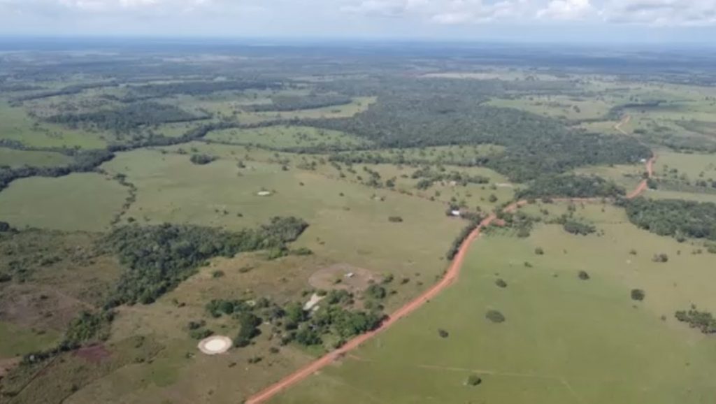
[[0,35],[716,43],[716,0],[0,0]]

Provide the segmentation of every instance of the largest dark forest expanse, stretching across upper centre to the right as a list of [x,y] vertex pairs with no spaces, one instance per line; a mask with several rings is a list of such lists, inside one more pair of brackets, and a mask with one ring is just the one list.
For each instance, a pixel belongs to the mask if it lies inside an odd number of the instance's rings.
[[[448,96],[380,97],[377,104],[355,117],[302,124],[353,133],[384,148],[503,145],[504,153],[462,163],[493,168],[516,182],[583,165],[637,163],[652,155],[634,138],[576,133],[548,117]],[[357,163],[366,157],[354,158],[348,153],[333,158]]]

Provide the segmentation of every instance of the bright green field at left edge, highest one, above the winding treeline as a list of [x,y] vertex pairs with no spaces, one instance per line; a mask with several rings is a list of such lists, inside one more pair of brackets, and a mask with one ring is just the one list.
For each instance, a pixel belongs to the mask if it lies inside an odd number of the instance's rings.
[[39,123],[21,107],[10,107],[0,100],[0,138],[43,148],[104,148],[107,141],[100,133],[69,130],[59,125]]

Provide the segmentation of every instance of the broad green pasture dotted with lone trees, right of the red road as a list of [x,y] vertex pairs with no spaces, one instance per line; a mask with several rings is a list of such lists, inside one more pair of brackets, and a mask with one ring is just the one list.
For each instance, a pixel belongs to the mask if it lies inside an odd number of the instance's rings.
[[[692,303],[716,309],[713,256],[639,231],[615,208],[579,214],[605,235],[552,225],[528,239],[477,241],[458,284],[272,402],[709,403],[716,341],[673,313]],[[546,253],[536,256],[536,246]],[[654,263],[657,252],[672,259]],[[508,287],[495,286],[498,278]],[[646,292],[643,302],[629,298],[634,288]],[[489,309],[506,321],[485,319]],[[470,374],[483,383],[465,385]]]

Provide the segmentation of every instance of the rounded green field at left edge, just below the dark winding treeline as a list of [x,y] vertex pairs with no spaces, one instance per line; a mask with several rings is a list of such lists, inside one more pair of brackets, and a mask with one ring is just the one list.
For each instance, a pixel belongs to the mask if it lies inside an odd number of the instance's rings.
[[95,173],[24,178],[0,193],[0,220],[17,228],[102,231],[126,197],[127,188]]

